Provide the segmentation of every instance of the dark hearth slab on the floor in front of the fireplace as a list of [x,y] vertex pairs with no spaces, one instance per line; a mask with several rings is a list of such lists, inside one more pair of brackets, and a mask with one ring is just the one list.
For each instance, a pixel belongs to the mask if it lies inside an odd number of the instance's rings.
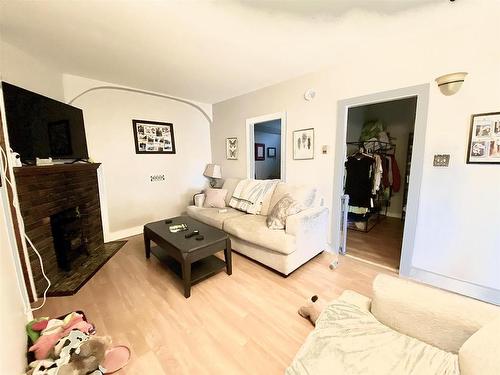
[[56,270],[48,274],[52,285],[47,296],[71,296],[78,292],[126,243],[127,241],[105,243],[92,251],[89,256],[80,256],[75,259],[71,263],[71,271]]

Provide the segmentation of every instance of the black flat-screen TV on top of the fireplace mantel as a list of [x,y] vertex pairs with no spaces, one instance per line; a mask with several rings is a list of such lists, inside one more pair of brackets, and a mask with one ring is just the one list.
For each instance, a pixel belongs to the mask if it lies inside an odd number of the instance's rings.
[[10,147],[35,158],[88,159],[81,109],[2,82]]

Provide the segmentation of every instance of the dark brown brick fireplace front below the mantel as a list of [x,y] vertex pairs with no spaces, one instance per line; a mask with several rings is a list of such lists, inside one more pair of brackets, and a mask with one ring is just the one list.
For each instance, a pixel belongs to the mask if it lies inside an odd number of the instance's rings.
[[[14,169],[26,234],[40,252],[49,278],[69,270],[77,272],[71,269],[72,260],[99,251],[104,243],[97,185],[99,165]],[[47,284],[35,253],[28,253],[36,290],[41,294]]]

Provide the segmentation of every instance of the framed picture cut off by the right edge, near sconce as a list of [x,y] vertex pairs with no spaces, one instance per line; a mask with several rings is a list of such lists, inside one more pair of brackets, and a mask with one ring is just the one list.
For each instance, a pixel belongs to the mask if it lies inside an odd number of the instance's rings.
[[500,112],[472,115],[467,164],[500,164]]

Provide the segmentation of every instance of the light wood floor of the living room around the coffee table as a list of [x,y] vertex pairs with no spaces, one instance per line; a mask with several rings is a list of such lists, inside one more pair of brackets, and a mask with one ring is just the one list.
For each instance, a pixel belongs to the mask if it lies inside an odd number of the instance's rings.
[[182,295],[180,280],[144,258],[135,236],[74,296],[52,297],[36,316],[83,310],[99,335],[132,350],[120,374],[283,374],[312,330],[297,309],[313,294],[344,289],[370,295],[387,272],[323,253],[284,278],[234,254],[233,275],[219,273]]

